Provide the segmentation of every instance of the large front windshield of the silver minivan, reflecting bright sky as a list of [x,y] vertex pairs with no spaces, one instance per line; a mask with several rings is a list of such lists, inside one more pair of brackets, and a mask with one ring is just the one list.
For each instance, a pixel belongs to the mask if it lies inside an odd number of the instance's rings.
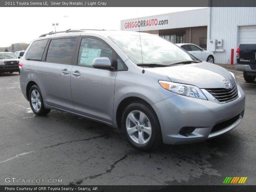
[[[135,64],[164,64],[196,60],[175,44],[158,36],[109,36]],[[141,42],[141,44],[140,44]],[[142,56],[141,56],[142,54]],[[143,62],[142,62],[143,60]]]

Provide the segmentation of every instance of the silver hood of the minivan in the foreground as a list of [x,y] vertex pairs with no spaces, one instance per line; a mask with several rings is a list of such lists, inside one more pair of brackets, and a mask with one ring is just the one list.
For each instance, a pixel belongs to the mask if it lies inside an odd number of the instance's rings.
[[[193,63],[171,67],[144,68],[146,71],[162,74],[172,82],[191,84],[204,88],[230,88],[223,81],[231,85],[235,82],[233,76],[223,67],[208,62]],[[161,79],[159,79],[161,80]]]

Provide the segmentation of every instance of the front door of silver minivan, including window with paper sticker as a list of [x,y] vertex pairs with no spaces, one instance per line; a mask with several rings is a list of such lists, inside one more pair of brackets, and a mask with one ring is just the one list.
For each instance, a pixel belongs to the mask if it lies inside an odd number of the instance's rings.
[[117,72],[93,68],[92,60],[97,57],[108,57],[111,60],[112,49],[99,39],[81,38],[77,65],[71,70],[74,111],[83,116],[112,123]]

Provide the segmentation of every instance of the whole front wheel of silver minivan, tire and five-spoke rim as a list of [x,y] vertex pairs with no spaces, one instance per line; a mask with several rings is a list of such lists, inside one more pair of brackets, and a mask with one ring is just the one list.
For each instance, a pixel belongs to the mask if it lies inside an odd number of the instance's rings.
[[156,113],[146,103],[133,102],[124,109],[122,128],[129,143],[143,151],[157,148],[162,141]]

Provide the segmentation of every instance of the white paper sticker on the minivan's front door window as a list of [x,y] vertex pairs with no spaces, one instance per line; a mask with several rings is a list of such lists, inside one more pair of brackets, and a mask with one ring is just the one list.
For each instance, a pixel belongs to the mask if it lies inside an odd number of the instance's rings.
[[83,48],[80,65],[92,65],[93,59],[100,57],[101,49]]

